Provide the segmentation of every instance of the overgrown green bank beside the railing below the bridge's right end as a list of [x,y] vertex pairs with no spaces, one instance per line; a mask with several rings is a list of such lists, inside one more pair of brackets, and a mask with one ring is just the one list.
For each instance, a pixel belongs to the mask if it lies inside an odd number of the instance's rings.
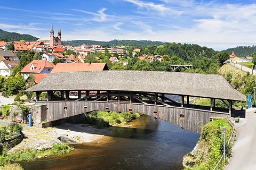
[[188,169],[213,169],[223,154],[223,127],[226,130],[226,162],[221,162],[218,169],[227,164],[231,155],[231,145],[228,145],[233,128],[226,119],[217,119],[203,127],[202,135],[193,151],[184,157],[183,165]]

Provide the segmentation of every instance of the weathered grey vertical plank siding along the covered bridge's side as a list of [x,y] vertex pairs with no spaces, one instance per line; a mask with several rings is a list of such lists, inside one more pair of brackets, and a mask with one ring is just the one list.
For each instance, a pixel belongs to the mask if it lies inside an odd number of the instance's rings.
[[[186,107],[173,107],[163,105],[145,105],[130,103],[106,103],[101,101],[47,101],[38,102],[47,105],[46,122],[60,120],[70,116],[83,114],[91,111],[109,111],[129,112],[132,108],[133,113],[143,113],[149,116],[156,116],[159,120],[170,122],[187,130],[201,133],[203,125],[210,122],[211,117],[226,117],[227,113],[198,110]],[[65,107],[67,109],[65,109]],[[86,107],[86,108],[85,108]],[[157,112],[154,115],[154,111]],[[182,119],[180,114],[185,115]]]

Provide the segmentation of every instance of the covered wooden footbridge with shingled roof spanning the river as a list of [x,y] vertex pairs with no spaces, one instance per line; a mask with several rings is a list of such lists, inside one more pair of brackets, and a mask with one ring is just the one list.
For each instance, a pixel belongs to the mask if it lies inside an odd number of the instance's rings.
[[[38,124],[95,110],[138,112],[197,133],[212,118],[234,113],[233,101],[246,100],[222,75],[155,71],[51,73],[27,91],[36,92]],[[42,92],[47,101],[39,101]],[[198,98],[209,105],[195,105]]]

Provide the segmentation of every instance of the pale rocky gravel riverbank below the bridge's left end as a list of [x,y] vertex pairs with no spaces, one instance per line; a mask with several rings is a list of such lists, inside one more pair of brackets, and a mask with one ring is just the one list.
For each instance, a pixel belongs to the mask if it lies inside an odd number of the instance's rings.
[[95,129],[86,124],[61,124],[55,128],[36,128],[25,127],[23,134],[26,139],[23,139],[19,145],[15,146],[9,153],[22,151],[26,148],[46,149],[51,148],[54,143],[61,143],[59,137],[65,137],[76,143],[83,142],[100,142],[109,129]]

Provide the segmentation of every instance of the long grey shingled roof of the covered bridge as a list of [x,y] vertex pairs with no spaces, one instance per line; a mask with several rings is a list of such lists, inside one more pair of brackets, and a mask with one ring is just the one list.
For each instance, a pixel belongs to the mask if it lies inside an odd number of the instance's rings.
[[157,71],[50,73],[27,91],[118,90],[246,100],[222,75]]

